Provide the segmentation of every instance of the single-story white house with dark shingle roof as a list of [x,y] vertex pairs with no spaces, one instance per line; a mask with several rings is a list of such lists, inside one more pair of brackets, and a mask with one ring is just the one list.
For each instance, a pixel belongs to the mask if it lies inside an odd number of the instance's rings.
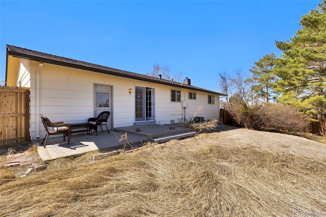
[[174,82],[12,45],[7,45],[6,85],[30,88],[32,140],[45,135],[38,114],[73,124],[110,111],[109,129],[167,125],[195,114],[219,118],[224,95],[193,86],[188,78]]

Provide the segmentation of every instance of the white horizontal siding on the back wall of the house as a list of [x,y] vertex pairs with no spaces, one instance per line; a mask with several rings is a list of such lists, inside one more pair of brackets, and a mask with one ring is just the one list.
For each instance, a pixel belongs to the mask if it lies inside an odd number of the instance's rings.
[[[23,61],[22,61],[23,62]],[[31,62],[29,64],[29,62]],[[219,96],[215,95],[215,105],[207,103],[208,93],[188,90],[185,88],[171,87],[168,85],[144,82],[135,79],[94,73],[82,69],[75,69],[49,63],[39,66],[37,61],[26,61],[24,68],[19,71],[19,78],[29,78],[30,82],[21,82],[31,88],[31,134],[36,138],[37,114],[37,74],[40,75],[40,105],[39,113],[49,117],[52,121],[61,120],[67,123],[83,123],[94,116],[94,84],[112,87],[112,126],[132,126],[134,116],[134,90],[135,86],[154,88],[154,105],[156,124],[175,123],[182,118],[183,108],[181,102],[171,102],[171,89],[181,91],[181,101],[188,103],[186,119],[191,120],[198,108],[202,109],[196,116],[205,119],[219,118]],[[26,75],[26,71],[29,73]],[[22,76],[23,75],[23,76]],[[133,92],[129,94],[128,89]],[[188,92],[196,93],[196,100],[188,99]],[[182,120],[183,121],[183,120]],[[45,130],[40,125],[40,137],[45,135]]]

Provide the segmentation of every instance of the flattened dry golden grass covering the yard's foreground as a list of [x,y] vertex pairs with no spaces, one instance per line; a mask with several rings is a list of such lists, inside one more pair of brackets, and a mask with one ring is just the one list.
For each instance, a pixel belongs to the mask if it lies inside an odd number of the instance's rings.
[[149,144],[99,161],[58,159],[2,183],[0,216],[326,215],[325,158],[241,147],[220,136]]

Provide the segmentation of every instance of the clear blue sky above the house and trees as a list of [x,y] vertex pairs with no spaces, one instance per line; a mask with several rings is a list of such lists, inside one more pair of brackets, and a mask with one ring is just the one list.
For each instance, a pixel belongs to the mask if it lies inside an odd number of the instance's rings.
[[[320,1],[0,1],[0,81],[6,44],[146,74],[153,65],[220,91],[219,73],[280,54]],[[2,84],[3,85],[3,84]]]

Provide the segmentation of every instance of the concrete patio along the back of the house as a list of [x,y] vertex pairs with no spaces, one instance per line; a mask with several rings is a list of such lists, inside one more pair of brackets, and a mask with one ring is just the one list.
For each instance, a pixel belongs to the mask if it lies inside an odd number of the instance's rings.
[[[192,132],[188,128],[178,127],[176,125],[141,125],[115,128],[113,131],[110,131],[110,134],[107,133],[107,131],[102,132],[99,130],[97,134],[97,136],[95,133],[93,133],[93,135],[72,135],[70,144],[68,144],[67,138],[66,141],[63,141],[62,136],[49,137],[46,148],[39,146],[37,151],[40,158],[43,161],[46,161],[60,157],[80,155],[96,150],[110,148],[118,149],[125,143],[132,145],[146,141],[161,143],[171,139],[191,137],[194,136],[196,132]],[[40,138],[35,141],[40,144],[42,139],[43,138]]]

